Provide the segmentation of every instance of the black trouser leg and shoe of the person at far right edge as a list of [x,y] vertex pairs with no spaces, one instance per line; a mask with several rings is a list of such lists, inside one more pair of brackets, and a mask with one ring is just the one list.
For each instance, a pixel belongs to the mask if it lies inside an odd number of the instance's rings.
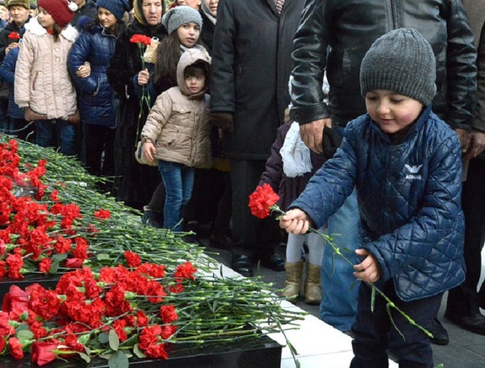
[[461,207],[465,213],[464,283],[448,292],[446,315],[455,318],[479,313],[479,302],[485,305],[485,283],[477,286],[482,270],[482,229],[485,224],[485,160],[471,159],[468,175],[461,193]]

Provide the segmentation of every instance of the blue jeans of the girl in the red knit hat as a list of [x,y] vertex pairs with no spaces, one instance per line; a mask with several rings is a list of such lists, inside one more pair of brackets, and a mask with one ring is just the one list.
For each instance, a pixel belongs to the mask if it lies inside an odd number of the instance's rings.
[[[52,142],[53,132],[57,136],[60,144],[56,145]],[[60,146],[60,152],[63,155],[76,154],[76,148],[74,145],[74,136],[76,130],[74,125],[61,119],[47,119],[35,121],[35,144],[41,147],[53,147]]]

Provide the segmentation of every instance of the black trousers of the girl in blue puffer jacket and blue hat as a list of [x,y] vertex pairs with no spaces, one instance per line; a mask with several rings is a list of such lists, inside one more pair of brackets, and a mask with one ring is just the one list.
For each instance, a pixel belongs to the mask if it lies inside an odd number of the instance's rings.
[[[86,166],[91,175],[114,175],[114,135],[116,130],[103,125],[83,123]],[[103,152],[105,152],[103,158]]]

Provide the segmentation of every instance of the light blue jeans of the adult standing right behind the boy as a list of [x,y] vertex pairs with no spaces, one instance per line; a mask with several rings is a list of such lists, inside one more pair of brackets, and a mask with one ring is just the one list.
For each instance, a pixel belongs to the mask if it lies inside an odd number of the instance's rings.
[[[355,249],[360,248],[360,216],[357,194],[354,191],[338,209],[328,218],[326,234],[332,236],[337,247],[345,247],[350,252],[342,251],[353,264],[357,259]],[[340,256],[333,256],[330,245],[324,245],[321,261],[321,303],[320,318],[340,331],[350,331],[357,313],[357,295],[359,283],[351,290],[355,282],[353,268]]]

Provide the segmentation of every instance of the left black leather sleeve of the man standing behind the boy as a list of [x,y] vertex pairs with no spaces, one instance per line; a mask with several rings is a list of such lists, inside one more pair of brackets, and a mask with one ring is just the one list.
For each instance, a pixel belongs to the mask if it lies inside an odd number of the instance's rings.
[[328,46],[324,3],[306,0],[300,26],[294,35],[290,117],[300,124],[329,117],[321,91]]

